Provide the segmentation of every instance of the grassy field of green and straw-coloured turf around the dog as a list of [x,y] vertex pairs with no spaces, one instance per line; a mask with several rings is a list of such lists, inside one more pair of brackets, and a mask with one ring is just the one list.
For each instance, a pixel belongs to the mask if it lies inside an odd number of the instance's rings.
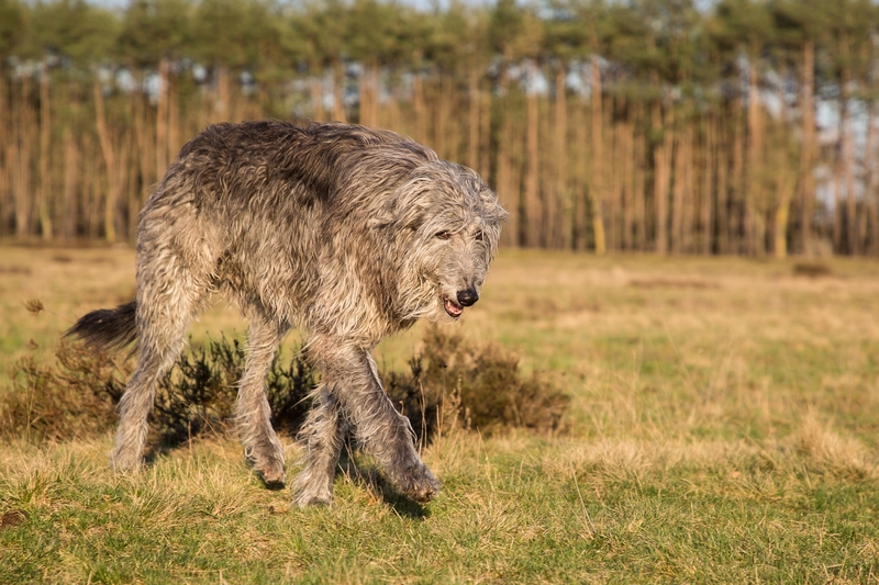
[[[127,248],[0,248],[0,367],[51,362],[133,283]],[[108,469],[110,435],[7,440],[0,582],[876,582],[877,299],[866,260],[503,250],[457,330],[569,394],[565,431],[457,430],[424,449],[435,502],[340,473],[336,505],[304,511],[222,436],[136,475]],[[192,336],[221,329],[244,325],[218,304]]]

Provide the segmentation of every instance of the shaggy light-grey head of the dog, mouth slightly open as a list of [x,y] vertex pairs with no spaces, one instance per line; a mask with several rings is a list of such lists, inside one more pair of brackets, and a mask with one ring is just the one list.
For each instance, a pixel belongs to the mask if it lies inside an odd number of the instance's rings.
[[454,320],[479,300],[507,212],[476,172],[444,160],[414,169],[396,195],[400,313]]

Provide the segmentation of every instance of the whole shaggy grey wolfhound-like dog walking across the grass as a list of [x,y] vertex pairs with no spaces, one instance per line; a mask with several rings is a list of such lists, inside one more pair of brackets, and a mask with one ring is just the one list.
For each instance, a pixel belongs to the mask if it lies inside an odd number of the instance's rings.
[[251,122],[183,146],[141,213],[135,300],[68,331],[101,349],[135,339],[111,463],[141,464],[156,385],[187,326],[220,291],[249,319],[236,426],[268,484],[285,482],[265,378],[291,326],[322,372],[303,426],[300,506],[330,504],[348,429],[419,502],[439,482],[386,396],[371,351],[416,319],[454,320],[479,299],[505,212],[472,170],[388,131]]

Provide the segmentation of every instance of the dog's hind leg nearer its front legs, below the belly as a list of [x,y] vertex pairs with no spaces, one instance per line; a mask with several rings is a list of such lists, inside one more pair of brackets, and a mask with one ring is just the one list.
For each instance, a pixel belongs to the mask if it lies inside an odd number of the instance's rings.
[[271,408],[266,398],[266,375],[289,330],[288,324],[272,323],[263,316],[251,320],[247,362],[238,384],[235,424],[247,461],[266,485],[282,485],[283,447],[271,428]]

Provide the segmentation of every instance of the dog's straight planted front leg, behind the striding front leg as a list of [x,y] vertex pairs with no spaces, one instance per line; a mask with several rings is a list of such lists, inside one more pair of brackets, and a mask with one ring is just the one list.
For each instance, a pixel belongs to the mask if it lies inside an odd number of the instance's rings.
[[321,384],[318,400],[299,436],[305,443],[305,468],[293,485],[293,502],[303,508],[333,503],[333,477],[342,452],[347,425],[342,419],[333,386]]

